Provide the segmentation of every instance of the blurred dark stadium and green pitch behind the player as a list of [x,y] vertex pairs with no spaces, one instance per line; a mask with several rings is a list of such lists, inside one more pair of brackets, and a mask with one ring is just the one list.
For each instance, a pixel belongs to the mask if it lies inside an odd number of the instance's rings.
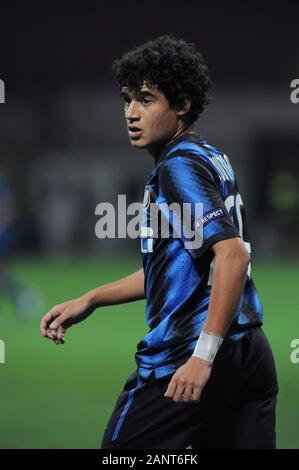
[[138,241],[99,240],[95,207],[141,200],[151,157],[130,148],[110,66],[173,32],[197,44],[214,99],[198,123],[238,174],[253,275],[279,374],[279,448],[299,448],[299,78],[296,2],[143,5],[11,2],[1,7],[0,448],[99,447],[147,331],[144,302],[105,308],[42,340],[54,304],[140,267]]

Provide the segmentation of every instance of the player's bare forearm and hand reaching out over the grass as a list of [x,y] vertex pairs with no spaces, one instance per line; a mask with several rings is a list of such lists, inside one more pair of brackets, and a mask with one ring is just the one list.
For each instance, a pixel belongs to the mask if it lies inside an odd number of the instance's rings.
[[133,302],[144,297],[144,273],[140,269],[118,281],[97,287],[77,299],[55,305],[41,319],[41,334],[56,344],[63,344],[67,328],[87,318],[96,308]]

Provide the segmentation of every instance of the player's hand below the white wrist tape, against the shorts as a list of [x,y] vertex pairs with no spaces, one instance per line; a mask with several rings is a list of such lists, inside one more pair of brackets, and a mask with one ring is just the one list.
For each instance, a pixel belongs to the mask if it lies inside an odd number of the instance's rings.
[[164,396],[172,398],[175,402],[199,401],[211,370],[211,362],[191,356],[172,376]]

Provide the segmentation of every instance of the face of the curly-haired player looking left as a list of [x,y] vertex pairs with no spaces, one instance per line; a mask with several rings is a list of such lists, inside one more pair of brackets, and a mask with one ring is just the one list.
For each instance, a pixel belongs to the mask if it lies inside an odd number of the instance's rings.
[[169,107],[157,85],[143,83],[139,92],[121,90],[131,144],[136,148],[155,148],[171,140],[178,130],[178,111]]

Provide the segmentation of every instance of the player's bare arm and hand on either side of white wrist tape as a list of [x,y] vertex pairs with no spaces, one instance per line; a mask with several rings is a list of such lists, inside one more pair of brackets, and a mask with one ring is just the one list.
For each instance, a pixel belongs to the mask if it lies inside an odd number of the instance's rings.
[[[215,243],[212,250],[215,267],[204,331],[224,337],[242,295],[250,257],[239,238]],[[198,401],[211,369],[209,361],[191,356],[173,375],[165,396],[175,402]]]

